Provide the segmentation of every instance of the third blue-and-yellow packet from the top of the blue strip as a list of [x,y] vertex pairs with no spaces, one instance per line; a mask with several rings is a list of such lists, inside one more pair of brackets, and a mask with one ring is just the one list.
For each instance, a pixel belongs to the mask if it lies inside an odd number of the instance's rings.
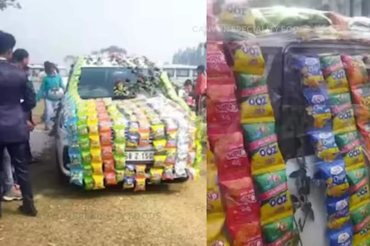
[[314,131],[308,133],[315,146],[316,156],[325,162],[336,159],[339,155],[339,148],[335,143],[332,131]]

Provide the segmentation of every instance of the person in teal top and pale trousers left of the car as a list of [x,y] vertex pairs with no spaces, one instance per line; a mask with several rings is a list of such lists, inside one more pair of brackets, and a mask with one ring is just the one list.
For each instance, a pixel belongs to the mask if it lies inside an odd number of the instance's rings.
[[52,118],[58,108],[59,102],[64,94],[62,78],[57,73],[56,66],[51,62],[45,62],[46,76],[36,94],[36,100],[45,99],[44,122],[45,130],[49,131],[53,125]]

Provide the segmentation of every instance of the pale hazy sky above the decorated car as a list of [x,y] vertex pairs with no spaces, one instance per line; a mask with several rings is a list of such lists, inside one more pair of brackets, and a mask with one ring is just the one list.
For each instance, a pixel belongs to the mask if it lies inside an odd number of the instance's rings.
[[193,31],[194,26],[206,24],[206,1],[18,1],[21,10],[0,11],[0,30],[12,33],[17,48],[27,49],[34,63],[63,63],[65,55],[87,54],[110,45],[166,62],[179,48],[206,39],[202,32]]

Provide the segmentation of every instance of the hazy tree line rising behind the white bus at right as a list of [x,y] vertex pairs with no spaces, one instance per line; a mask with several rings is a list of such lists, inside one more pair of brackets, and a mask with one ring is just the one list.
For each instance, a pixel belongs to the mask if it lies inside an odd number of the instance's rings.
[[204,43],[199,43],[198,47],[188,47],[184,51],[179,49],[172,58],[173,64],[184,65],[206,65],[206,48]]

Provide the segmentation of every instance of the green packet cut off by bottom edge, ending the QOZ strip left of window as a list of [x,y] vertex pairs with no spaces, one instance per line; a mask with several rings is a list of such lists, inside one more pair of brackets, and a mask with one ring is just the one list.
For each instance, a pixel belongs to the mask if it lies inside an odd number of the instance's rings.
[[288,216],[262,226],[264,245],[293,245],[293,217]]

